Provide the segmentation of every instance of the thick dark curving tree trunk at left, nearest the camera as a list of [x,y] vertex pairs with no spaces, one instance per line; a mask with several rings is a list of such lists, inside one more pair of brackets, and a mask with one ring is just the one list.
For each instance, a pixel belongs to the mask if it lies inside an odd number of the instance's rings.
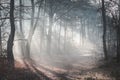
[[14,0],[10,0],[10,26],[11,31],[7,42],[7,59],[14,66],[14,55],[13,55],[13,41],[15,36],[15,24],[14,24]]

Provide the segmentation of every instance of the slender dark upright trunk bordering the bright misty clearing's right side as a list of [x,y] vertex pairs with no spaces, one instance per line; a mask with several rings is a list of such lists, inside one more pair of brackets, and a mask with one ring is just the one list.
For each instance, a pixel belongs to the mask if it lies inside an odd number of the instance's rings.
[[105,59],[108,59],[108,54],[107,54],[107,45],[106,45],[106,15],[105,15],[105,5],[104,5],[104,0],[102,0],[102,18],[103,18],[103,51],[104,51],[104,56]]

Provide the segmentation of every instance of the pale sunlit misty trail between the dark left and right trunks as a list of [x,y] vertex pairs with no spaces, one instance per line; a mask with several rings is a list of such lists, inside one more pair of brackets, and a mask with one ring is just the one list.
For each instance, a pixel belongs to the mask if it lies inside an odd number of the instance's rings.
[[86,50],[81,52],[83,53],[48,56],[46,59],[44,58],[43,61],[45,62],[35,58],[38,61],[33,59],[26,61],[27,68],[30,68],[37,76],[41,77],[40,73],[44,73],[52,80],[99,80],[110,78],[107,77],[106,71],[99,68],[100,61],[95,57],[96,53]]

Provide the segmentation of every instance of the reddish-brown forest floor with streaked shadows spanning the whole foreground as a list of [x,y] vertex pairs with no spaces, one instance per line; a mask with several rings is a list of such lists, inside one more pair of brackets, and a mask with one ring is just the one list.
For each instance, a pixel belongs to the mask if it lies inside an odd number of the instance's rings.
[[[94,68],[61,69],[36,65],[32,60],[24,64],[15,61],[15,67],[7,64],[0,68],[0,80],[120,80],[120,65],[115,60],[104,62]],[[2,64],[1,64],[2,65]]]

